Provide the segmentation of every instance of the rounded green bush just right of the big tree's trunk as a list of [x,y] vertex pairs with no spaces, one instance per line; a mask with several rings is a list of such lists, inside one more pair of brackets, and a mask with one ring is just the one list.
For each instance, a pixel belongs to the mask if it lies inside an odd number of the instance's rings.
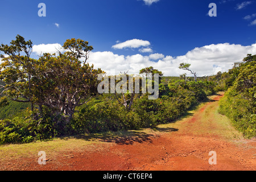
[[70,127],[73,134],[81,134],[138,129],[139,123],[139,117],[133,111],[127,111],[117,101],[105,101],[85,105]]

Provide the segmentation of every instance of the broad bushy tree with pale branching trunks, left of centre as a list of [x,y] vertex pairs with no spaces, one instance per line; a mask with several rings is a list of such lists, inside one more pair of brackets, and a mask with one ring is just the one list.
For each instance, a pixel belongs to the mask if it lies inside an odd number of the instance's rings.
[[61,56],[44,54],[37,70],[32,80],[36,104],[68,116],[68,121],[77,106],[86,104],[97,94],[97,76],[102,72],[67,53]]

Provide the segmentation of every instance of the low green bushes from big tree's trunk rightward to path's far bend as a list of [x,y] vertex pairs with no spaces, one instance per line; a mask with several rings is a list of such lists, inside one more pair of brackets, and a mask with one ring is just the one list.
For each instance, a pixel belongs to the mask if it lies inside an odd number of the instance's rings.
[[147,94],[143,94],[135,99],[129,111],[118,101],[109,100],[109,97],[90,101],[80,108],[79,114],[71,122],[70,131],[81,134],[154,128],[160,123],[174,121],[191,106],[204,100],[205,88],[213,89],[212,82],[203,81],[173,80],[163,86],[166,94],[161,98],[148,100]]

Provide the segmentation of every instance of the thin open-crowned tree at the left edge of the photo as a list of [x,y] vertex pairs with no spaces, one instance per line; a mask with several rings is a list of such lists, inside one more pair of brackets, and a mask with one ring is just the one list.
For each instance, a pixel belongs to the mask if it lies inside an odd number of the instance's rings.
[[0,65],[1,97],[8,97],[17,102],[31,102],[34,110],[34,96],[31,90],[31,78],[34,73],[35,60],[30,58],[31,40],[25,41],[20,35],[10,42],[10,46],[1,44],[0,51],[3,63]]

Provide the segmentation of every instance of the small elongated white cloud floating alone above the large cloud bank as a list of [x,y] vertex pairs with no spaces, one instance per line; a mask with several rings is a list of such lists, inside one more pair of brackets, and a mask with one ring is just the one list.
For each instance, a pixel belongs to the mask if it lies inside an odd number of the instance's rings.
[[147,40],[139,40],[139,39],[133,39],[133,40],[127,40],[126,42],[118,43],[112,46],[114,49],[123,49],[123,48],[139,48],[139,47],[146,47],[150,46],[150,42]]

